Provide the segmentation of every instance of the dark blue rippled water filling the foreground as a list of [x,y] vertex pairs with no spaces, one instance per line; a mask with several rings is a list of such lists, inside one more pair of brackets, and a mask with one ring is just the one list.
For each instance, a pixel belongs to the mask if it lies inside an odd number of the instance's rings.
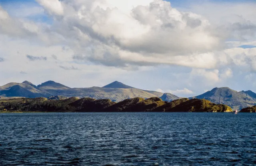
[[253,113],[0,114],[0,166],[255,164]]

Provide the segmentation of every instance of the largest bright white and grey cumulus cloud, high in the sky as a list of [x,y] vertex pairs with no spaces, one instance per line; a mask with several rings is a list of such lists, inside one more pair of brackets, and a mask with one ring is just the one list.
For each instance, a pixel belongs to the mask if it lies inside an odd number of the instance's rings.
[[[75,61],[106,66],[175,64],[213,68],[210,51],[220,47],[208,20],[180,12],[163,0],[38,0],[57,17],[51,30],[75,51]],[[61,17],[59,17],[61,15]],[[186,42],[184,42],[186,41]],[[201,60],[201,58],[203,60]]]

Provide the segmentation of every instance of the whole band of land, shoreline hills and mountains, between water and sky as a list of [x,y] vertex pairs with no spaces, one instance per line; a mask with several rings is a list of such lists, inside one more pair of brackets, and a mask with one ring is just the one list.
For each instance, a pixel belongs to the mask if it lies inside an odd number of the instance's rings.
[[91,88],[70,88],[54,81],[38,86],[28,81],[0,86],[0,110],[9,111],[231,112],[242,109],[254,112],[254,105],[254,92],[237,92],[228,87],[180,98],[170,93],[140,90],[118,81]]

